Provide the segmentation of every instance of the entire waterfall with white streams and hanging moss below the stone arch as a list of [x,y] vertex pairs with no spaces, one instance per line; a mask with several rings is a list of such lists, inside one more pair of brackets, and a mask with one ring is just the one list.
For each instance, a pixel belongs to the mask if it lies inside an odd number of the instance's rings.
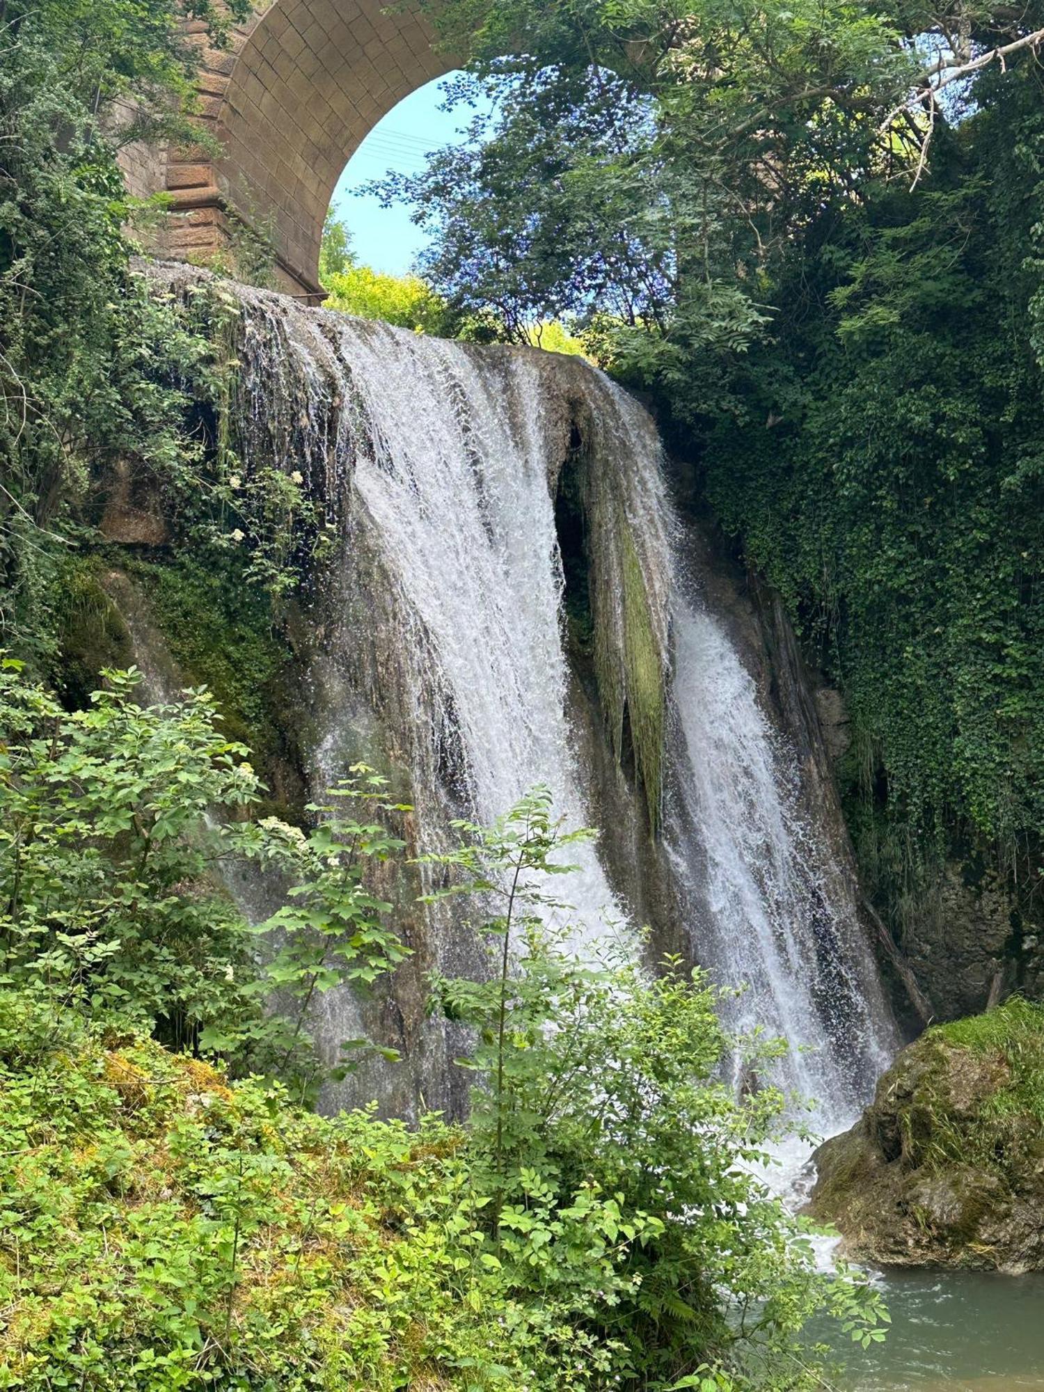
[[[727,1001],[728,1023],[782,1036],[775,1079],[818,1100],[821,1126],[845,1121],[887,1061],[887,1008],[825,838],[800,809],[786,741],[685,576],[647,413],[576,359],[426,338],[259,291],[242,305],[239,447],[248,464],[274,455],[302,470],[338,529],[330,632],[312,668],[316,784],[337,777],[345,748],[376,741],[409,773],[422,845],[445,844],[452,816],[489,821],[536,784],[571,823],[593,820],[555,525],[582,445],[593,663],[615,754],[649,785],[643,834],[660,809],[657,863],[693,958],[746,987]],[[661,788],[653,760],[640,764],[660,714]],[[575,905],[572,947],[594,955],[622,931],[638,952],[604,852],[575,859],[555,885]],[[429,965],[445,962],[447,933],[429,933]],[[445,1057],[432,1054],[436,1066]]]

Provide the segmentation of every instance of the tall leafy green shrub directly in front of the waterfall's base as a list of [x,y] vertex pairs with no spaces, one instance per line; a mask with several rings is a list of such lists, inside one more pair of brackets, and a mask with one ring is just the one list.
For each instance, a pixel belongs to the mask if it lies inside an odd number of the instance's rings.
[[[493,827],[459,823],[445,894],[477,894],[493,972],[437,977],[434,1002],[469,1025],[476,1075],[468,1153],[473,1260],[498,1272],[539,1335],[537,1381],[656,1388],[820,1385],[795,1339],[832,1310],[883,1338],[880,1303],[844,1271],[814,1271],[802,1224],[756,1178],[786,1129],[771,1087],[736,1100],[736,1047],[718,992],[678,962],[657,977],[568,951],[550,892],[569,866],[550,795]],[[479,1236],[480,1235],[480,1236]],[[757,1314],[752,1314],[757,1310]],[[586,1381],[585,1381],[586,1379]]]

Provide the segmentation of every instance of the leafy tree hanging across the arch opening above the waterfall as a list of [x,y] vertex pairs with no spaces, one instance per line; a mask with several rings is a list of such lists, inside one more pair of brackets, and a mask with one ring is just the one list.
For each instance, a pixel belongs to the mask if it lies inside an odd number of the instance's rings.
[[436,288],[512,333],[597,309],[664,354],[750,341],[774,259],[852,196],[915,71],[888,17],[846,4],[432,11],[500,99],[469,146],[384,184],[437,234]]

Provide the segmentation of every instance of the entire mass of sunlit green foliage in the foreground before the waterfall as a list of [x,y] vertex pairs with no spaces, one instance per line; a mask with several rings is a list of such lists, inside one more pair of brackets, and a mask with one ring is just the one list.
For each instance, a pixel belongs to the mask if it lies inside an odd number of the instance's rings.
[[[271,1077],[230,1086],[200,1054],[284,1040],[280,1070],[316,991],[401,956],[359,873],[401,844],[333,807],[309,838],[200,825],[219,799],[249,802],[241,750],[213,745],[202,695],[142,711],[110,682],[82,718],[8,682],[0,1385],[785,1392],[820,1385],[812,1314],[881,1336],[874,1293],[818,1274],[757,1178],[784,1100],[721,1080],[735,1044],[717,992],[671,963],[654,980],[582,966],[540,927],[548,876],[586,835],[547,793],[461,824],[437,857],[444,892],[503,896],[497,974],[434,983],[475,1030],[466,1129],[326,1121]],[[53,738],[32,734],[39,714]],[[342,796],[379,803],[381,781]],[[231,845],[303,877],[264,969],[206,888]],[[296,1023],[237,1031],[244,995],[271,984]]]

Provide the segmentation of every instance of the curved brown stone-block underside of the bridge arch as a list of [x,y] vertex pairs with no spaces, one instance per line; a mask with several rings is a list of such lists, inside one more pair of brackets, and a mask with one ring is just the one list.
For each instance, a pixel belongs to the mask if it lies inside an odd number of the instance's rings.
[[419,17],[381,14],[384,3],[271,0],[226,52],[196,35],[202,120],[221,155],[170,153],[167,255],[205,259],[245,226],[271,239],[281,288],[319,291],[344,166],[404,96],[454,67]]

